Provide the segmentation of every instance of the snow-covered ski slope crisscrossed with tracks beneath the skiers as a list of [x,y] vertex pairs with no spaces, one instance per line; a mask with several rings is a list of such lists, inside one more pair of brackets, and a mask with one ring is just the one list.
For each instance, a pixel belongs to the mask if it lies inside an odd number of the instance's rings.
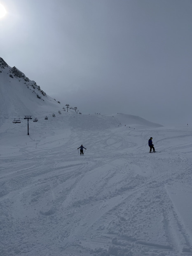
[[192,128],[58,110],[1,120],[0,256],[191,256]]

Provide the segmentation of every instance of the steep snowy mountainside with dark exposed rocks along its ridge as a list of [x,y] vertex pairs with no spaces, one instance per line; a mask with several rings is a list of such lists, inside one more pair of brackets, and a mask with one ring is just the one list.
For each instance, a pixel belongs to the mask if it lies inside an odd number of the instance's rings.
[[35,81],[29,80],[16,67],[11,68],[0,58],[0,114],[1,117],[12,115],[22,118],[33,115],[40,108],[47,106],[57,109],[58,102],[40,89]]

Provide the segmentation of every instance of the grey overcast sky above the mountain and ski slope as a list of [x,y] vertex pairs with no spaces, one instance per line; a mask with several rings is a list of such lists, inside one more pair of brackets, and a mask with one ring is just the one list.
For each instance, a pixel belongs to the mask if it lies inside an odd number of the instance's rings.
[[61,106],[192,125],[192,0],[0,3],[0,57]]

